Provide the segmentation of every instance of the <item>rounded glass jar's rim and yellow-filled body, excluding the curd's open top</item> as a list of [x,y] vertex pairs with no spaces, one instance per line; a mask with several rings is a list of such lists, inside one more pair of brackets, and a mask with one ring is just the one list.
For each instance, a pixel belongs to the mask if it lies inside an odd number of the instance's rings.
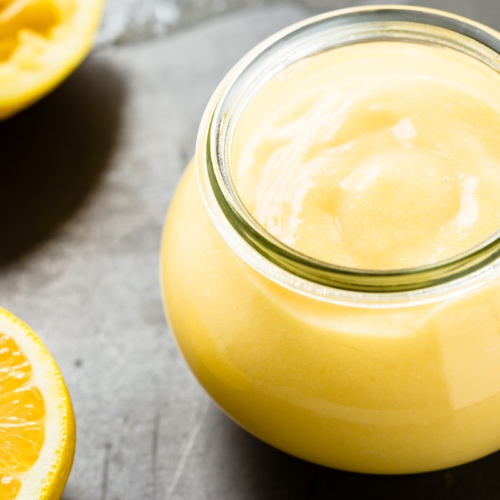
[[169,209],[161,285],[190,369],[250,433],[329,467],[413,473],[500,448],[498,233],[432,264],[342,267],[266,231],[232,175],[238,121],[266,82],[379,41],[445,47],[500,73],[494,30],[423,8],[336,11],[266,40],[208,105]]

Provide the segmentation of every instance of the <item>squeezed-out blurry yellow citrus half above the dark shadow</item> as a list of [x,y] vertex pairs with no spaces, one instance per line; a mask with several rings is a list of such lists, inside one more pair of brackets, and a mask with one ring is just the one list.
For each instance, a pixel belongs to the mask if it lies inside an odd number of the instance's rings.
[[52,90],[92,47],[104,0],[0,0],[0,119]]

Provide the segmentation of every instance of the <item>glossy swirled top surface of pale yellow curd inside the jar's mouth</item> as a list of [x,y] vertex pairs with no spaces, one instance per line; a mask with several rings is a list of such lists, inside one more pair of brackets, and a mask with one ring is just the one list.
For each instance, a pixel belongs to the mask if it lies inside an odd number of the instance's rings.
[[500,228],[499,88],[486,65],[424,44],[309,57],[246,106],[238,193],[319,260],[393,269],[453,257]]

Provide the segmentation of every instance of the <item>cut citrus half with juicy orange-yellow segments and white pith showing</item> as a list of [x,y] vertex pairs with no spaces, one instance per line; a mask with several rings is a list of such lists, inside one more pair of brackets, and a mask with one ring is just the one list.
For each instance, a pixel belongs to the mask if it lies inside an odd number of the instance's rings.
[[0,308],[0,499],[55,500],[75,452],[61,373],[35,333]]

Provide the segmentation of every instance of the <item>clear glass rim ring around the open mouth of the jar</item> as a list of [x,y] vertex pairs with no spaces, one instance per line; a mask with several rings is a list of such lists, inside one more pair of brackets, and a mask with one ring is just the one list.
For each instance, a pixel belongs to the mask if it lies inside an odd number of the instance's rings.
[[238,195],[231,172],[232,138],[243,108],[267,81],[294,62],[326,50],[395,40],[439,44],[500,73],[500,38],[488,27],[420,7],[357,7],[310,18],[264,41],[227,75],[207,108],[205,131],[199,136],[204,156],[199,163],[205,167],[199,172],[202,184],[209,186],[212,201],[237,237],[278,272],[338,290],[394,294],[471,280],[500,257],[498,230],[466,251],[432,264],[388,270],[339,266],[285,245],[257,222]]

